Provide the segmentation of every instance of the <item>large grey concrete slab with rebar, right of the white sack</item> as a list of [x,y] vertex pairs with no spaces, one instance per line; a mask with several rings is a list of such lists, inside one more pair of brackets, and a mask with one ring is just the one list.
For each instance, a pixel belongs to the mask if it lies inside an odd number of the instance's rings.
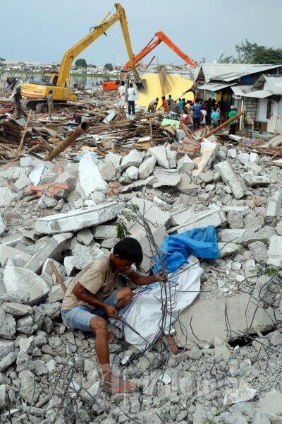
[[[231,323],[230,331],[226,331],[226,311],[228,322]],[[185,325],[187,334],[183,334],[181,325],[176,323],[176,340],[178,346],[183,348],[212,345],[215,337],[228,341],[238,338],[238,334],[271,329],[274,322],[281,318],[281,314],[274,317],[271,307],[266,310],[257,308],[257,302],[250,302],[248,293],[228,297],[211,295],[196,299],[180,314],[179,321]]]

